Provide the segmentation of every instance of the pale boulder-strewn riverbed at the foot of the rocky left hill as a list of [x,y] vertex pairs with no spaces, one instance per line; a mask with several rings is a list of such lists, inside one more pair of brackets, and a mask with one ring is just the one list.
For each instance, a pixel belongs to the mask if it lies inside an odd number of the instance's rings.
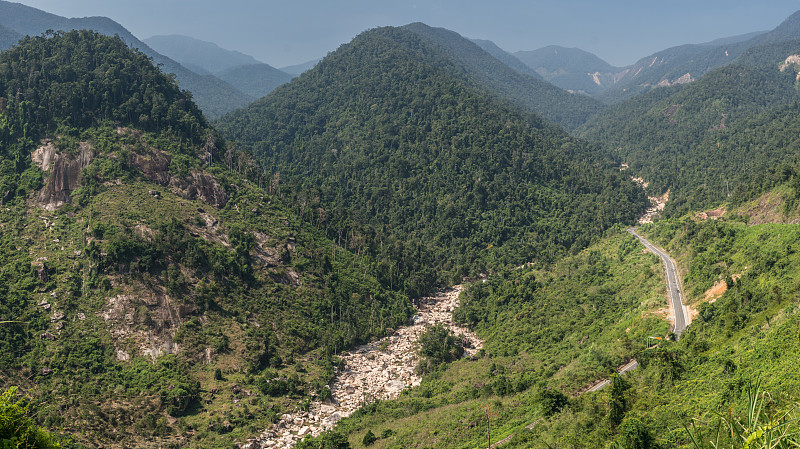
[[344,367],[336,372],[330,385],[333,400],[315,401],[308,412],[298,410],[282,415],[276,424],[248,440],[242,448],[291,448],[307,435],[317,436],[333,428],[364,401],[394,399],[404,389],[419,385],[421,377],[415,373],[419,362],[416,342],[425,329],[435,324],[447,325],[468,342],[464,357],[475,355],[483,341],[453,322],[452,312],[458,307],[462,289],[463,286],[457,285],[422,298],[411,324],[389,337],[342,354]]

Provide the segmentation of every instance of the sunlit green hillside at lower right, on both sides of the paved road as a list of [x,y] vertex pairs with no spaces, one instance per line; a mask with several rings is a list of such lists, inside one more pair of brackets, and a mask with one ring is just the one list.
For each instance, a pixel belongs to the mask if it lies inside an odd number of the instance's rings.
[[[647,336],[666,332],[663,268],[632,237],[609,232],[549,269],[471,286],[456,316],[485,338],[484,357],[439,369],[338,431],[354,448],[367,447],[367,432],[381,435],[368,447],[477,448],[488,414],[491,440],[509,436],[507,448],[793,447],[800,230],[746,221],[684,217],[640,229],[681,267],[694,318],[679,341],[646,348]],[[630,358],[637,369],[578,394]]]

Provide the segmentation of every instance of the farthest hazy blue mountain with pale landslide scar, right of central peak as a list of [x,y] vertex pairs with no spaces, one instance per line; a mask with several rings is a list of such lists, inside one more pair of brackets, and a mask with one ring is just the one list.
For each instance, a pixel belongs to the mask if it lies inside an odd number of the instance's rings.
[[514,53],[544,80],[571,92],[597,94],[614,86],[624,69],[613,67],[596,55],[579,48],[550,45]]

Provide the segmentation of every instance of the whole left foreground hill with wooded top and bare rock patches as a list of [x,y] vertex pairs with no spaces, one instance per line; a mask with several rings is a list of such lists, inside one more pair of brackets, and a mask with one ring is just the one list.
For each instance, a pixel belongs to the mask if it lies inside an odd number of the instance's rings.
[[122,40],[25,38],[0,53],[0,97],[0,384],[39,424],[228,447],[407,321],[407,297]]

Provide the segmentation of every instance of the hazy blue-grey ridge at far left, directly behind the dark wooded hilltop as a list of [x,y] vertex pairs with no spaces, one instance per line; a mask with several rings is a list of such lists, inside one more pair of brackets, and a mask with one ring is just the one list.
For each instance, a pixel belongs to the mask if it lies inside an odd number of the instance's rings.
[[[68,19],[20,3],[0,0],[0,26],[20,35],[29,36],[37,36],[47,30],[81,29],[92,29],[108,36],[119,35],[127,44],[153,58],[155,64],[161,64],[164,72],[174,73],[181,88],[192,92],[194,101],[209,117],[217,117],[255,99],[212,75],[198,75],[161,55],[137,39],[125,27],[107,17]],[[8,46],[0,47],[0,50],[5,48]]]

